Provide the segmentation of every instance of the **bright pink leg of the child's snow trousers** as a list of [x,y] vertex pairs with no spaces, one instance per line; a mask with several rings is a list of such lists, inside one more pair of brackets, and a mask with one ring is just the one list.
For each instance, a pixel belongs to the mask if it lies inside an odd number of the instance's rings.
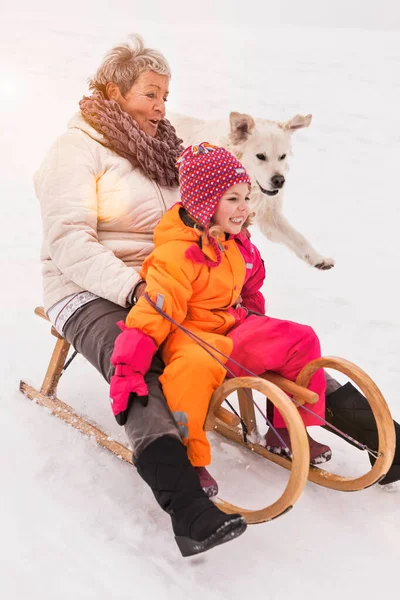
[[[321,356],[318,337],[308,325],[292,321],[282,321],[267,316],[250,315],[232,329],[228,337],[233,340],[230,358],[240,363],[256,375],[264,371],[274,371],[282,377],[295,381],[301,369],[314,358]],[[226,366],[235,377],[249,375],[243,368],[227,361]],[[231,375],[228,375],[231,377]],[[316,404],[305,404],[313,414],[299,408],[306,427],[321,425],[325,419],[326,379],[323,369],[314,373],[308,389],[319,395]],[[273,425],[285,427],[279,411],[274,408]]]

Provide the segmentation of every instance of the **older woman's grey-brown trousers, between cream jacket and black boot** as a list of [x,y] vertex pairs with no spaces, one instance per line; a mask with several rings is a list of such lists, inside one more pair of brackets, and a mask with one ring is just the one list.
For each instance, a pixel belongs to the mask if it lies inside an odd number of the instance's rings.
[[[79,308],[68,319],[63,330],[66,340],[103,375],[107,382],[110,382],[114,372],[110,358],[115,338],[121,333],[116,323],[125,321],[128,312],[128,308],[122,308],[99,298]],[[163,435],[172,435],[181,439],[158,380],[163,369],[164,363],[156,354],[145,376],[149,402],[147,406],[134,402],[128,414],[125,432],[135,458],[148,444]]]

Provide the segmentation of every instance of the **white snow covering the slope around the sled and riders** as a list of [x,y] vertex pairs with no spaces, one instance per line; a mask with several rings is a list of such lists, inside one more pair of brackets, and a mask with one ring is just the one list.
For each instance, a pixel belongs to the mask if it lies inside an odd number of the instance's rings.
[[[372,600],[395,594],[399,490],[344,494],[309,483],[285,516],[183,559],[168,516],[134,469],[17,391],[21,378],[40,386],[53,344],[47,324],[33,315],[42,300],[32,174],[105,51],[138,31],[172,65],[171,110],[202,118],[231,110],[272,119],[313,114],[311,127],[294,136],[285,214],[336,266],[312,269],[256,231],[268,268],[269,313],[311,324],[323,353],[359,364],[400,419],[399,32],[268,29],[264,17],[241,24],[239,16],[223,26],[172,17],[167,25],[157,10],[138,19],[134,4],[2,7],[0,595]],[[82,357],[63,376],[59,396],[124,442],[107,386]],[[326,432],[314,435],[331,443],[335,471],[367,469],[365,454]],[[210,439],[223,498],[261,507],[278,497],[286,471]]]

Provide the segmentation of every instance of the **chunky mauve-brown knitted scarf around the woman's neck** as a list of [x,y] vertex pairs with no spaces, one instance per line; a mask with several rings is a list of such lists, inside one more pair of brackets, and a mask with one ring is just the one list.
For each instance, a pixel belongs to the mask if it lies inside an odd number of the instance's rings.
[[134,167],[143,169],[159,185],[178,185],[175,163],[184,147],[167,119],[159,122],[156,136],[151,137],[139,129],[118,102],[106,100],[100,91],[84,96],[79,107],[85,121],[103,134],[104,146],[127,158]]

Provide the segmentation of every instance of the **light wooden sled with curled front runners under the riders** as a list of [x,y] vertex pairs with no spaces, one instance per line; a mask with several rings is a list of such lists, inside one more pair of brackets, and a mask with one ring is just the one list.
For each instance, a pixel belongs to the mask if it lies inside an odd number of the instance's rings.
[[[42,307],[37,307],[35,313],[49,321]],[[85,435],[93,437],[103,448],[110,450],[126,462],[132,463],[132,452],[127,447],[110,439],[95,424],[90,423],[68,404],[57,398],[59,379],[72,358],[67,360],[70,344],[53,327],[51,333],[56,337],[56,343],[40,390],[21,381],[21,392],[31,400],[49,408],[54,415]],[[361,477],[342,477],[309,464],[310,455],[306,430],[296,404],[314,404],[318,400],[318,395],[308,390],[307,385],[315,371],[320,368],[336,369],[352,379],[367,398],[375,417],[379,438],[378,451],[373,453],[376,460],[373,467]],[[275,405],[283,416],[290,437],[292,459],[273,454],[261,444],[251,441],[256,434],[255,403],[252,398],[252,390],[257,390],[268,398],[268,401]],[[239,413],[222,407],[222,402],[233,392],[238,394]],[[293,400],[289,398],[288,393],[292,395]],[[234,411],[233,407],[231,408]],[[292,508],[301,495],[307,479],[319,485],[342,491],[356,491],[369,487],[385,476],[392,464],[395,449],[393,420],[380,390],[359,367],[336,357],[319,358],[310,362],[300,372],[296,382],[289,381],[272,372],[264,373],[261,377],[237,377],[225,380],[213,394],[205,429],[217,431],[251,452],[290,470],[290,476],[281,497],[265,508],[248,510],[221,499],[216,501],[223,511],[239,512],[248,523],[269,521]],[[349,439],[354,442],[352,438]],[[362,447],[361,444],[358,446]],[[362,447],[362,449],[368,450],[366,447]]]

